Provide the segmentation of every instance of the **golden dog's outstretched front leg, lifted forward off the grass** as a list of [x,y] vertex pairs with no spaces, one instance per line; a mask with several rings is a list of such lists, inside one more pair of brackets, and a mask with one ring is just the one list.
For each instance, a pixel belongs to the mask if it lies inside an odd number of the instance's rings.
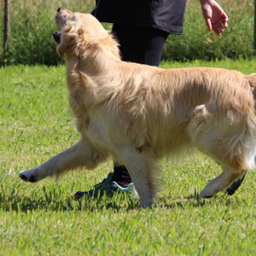
[[56,154],[43,165],[20,172],[19,176],[27,182],[34,183],[44,177],[59,176],[63,172],[82,166],[92,169],[104,159],[104,155],[84,139],[74,144],[73,147],[67,148],[61,154]]

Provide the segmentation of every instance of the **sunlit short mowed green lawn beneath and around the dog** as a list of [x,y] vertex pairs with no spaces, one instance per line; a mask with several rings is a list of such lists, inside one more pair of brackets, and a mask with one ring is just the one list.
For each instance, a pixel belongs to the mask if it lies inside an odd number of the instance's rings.
[[[252,61],[164,62],[162,67],[256,71]],[[221,172],[205,155],[161,161],[153,209],[132,195],[74,201],[112,172],[69,172],[25,183],[18,174],[79,139],[68,108],[65,67],[0,68],[0,255],[256,255],[255,171],[233,196],[198,197]],[[225,86],[225,84],[224,84]]]

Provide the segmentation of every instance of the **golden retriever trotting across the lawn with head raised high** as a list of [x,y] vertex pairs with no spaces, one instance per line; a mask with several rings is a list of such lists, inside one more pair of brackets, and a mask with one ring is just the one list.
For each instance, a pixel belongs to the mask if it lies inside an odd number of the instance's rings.
[[223,172],[201,191],[203,198],[226,191],[254,168],[256,74],[121,61],[119,45],[92,15],[60,8],[55,22],[81,137],[41,166],[20,172],[22,179],[37,182],[93,169],[112,157],[128,168],[141,206],[150,207],[160,185],[161,158],[197,148],[216,160]]

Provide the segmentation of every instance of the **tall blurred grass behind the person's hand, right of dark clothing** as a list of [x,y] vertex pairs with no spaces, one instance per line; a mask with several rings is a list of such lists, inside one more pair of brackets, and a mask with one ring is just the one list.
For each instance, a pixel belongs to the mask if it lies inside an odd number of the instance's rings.
[[205,20],[201,15],[199,1],[187,1],[184,15],[183,35],[170,35],[166,41],[164,58],[166,60],[219,60],[226,57],[248,58],[253,50],[253,9],[250,0],[217,1],[229,16],[229,28],[218,37],[207,32]]

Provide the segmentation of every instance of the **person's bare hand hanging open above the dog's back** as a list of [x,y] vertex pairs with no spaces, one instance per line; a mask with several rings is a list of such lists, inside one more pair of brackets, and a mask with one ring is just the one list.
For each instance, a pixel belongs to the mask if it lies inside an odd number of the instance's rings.
[[229,17],[214,0],[200,0],[202,14],[207,22],[209,31],[213,30],[218,36],[228,28]]

